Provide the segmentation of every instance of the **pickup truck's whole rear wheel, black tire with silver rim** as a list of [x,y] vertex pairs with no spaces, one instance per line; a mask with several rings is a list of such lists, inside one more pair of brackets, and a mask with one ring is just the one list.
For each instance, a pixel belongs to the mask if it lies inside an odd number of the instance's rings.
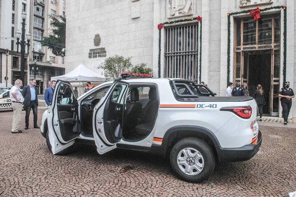
[[181,179],[199,183],[215,169],[215,155],[208,143],[197,138],[185,138],[172,148],[170,163]]

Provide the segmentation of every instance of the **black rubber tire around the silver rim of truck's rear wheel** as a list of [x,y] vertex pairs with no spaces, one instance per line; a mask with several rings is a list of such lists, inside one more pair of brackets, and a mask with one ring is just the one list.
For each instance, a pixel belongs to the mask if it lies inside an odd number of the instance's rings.
[[[199,159],[198,162],[201,162],[203,164],[203,168],[199,173],[197,170],[195,170],[194,173],[197,173],[195,175],[186,174],[180,169],[182,167],[186,168],[185,165],[178,165],[178,154],[180,153],[182,155],[181,150],[184,150],[186,148],[193,148],[202,155],[203,160]],[[188,159],[186,159],[185,162],[188,163]],[[193,166],[194,163],[191,163],[192,160],[189,159],[189,162],[190,165]],[[181,141],[178,141],[171,150],[170,163],[173,171],[177,174],[179,178],[192,183],[200,183],[202,181],[205,181],[212,174],[216,165],[215,155],[211,146],[207,142],[198,138],[185,138]]]

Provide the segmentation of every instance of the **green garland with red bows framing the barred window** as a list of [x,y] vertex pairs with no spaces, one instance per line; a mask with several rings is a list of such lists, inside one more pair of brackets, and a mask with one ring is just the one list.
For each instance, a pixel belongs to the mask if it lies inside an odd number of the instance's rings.
[[[202,17],[193,17],[193,18],[187,18],[187,19],[178,19],[175,21],[167,21],[164,23],[160,23],[157,25],[157,28],[159,29],[159,35],[158,35],[158,78],[160,78],[160,70],[161,70],[161,63],[160,63],[160,54],[161,54],[161,29],[163,28],[163,25],[168,25],[168,24],[176,24],[176,23],[183,23],[183,22],[188,22],[188,21],[194,21],[197,20],[200,22],[200,51],[199,51],[199,71],[201,72],[201,19]],[[200,73],[201,75],[201,73]],[[199,81],[201,80],[201,77],[199,76]]]

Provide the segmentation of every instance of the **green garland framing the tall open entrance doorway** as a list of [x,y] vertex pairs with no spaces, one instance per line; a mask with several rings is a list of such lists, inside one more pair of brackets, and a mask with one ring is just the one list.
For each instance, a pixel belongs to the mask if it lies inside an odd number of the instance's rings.
[[[272,6],[272,7],[266,7],[263,9],[260,9],[260,12],[271,10],[271,9],[284,9],[284,62],[283,62],[283,75],[284,75],[284,82],[286,81],[286,51],[287,51],[287,12],[286,9],[287,6],[279,5],[279,6]],[[250,13],[255,9],[248,9],[248,10],[242,10],[239,12],[231,12],[227,13],[228,18],[228,24],[227,24],[227,84],[230,82],[230,16],[231,15],[237,15],[237,14],[247,14]]]

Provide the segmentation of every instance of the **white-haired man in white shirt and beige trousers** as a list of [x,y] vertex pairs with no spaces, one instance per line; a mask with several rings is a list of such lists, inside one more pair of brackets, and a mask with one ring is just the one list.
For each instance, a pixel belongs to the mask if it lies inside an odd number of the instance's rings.
[[13,119],[12,119],[12,129],[11,133],[22,133],[22,130],[19,130],[21,114],[23,109],[24,97],[20,91],[22,86],[22,80],[16,80],[15,85],[13,85],[9,91],[9,96],[11,99],[11,106],[13,109]]

